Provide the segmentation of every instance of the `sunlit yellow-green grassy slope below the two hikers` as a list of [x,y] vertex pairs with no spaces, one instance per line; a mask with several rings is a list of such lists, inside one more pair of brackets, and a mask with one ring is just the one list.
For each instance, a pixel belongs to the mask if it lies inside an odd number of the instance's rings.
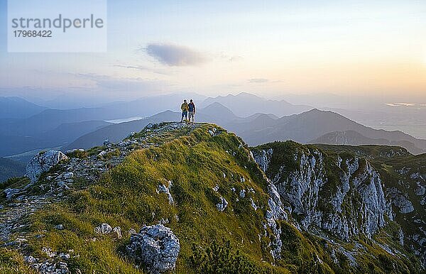
[[[71,259],[71,270],[138,273],[140,270],[123,256],[129,242],[126,231],[168,219],[167,226],[181,243],[178,273],[194,270],[192,245],[205,249],[216,242],[219,246],[229,242],[232,254],[245,262],[241,265],[246,269],[285,273],[284,268],[263,263],[272,261],[268,240],[258,236],[263,234],[268,201],[263,175],[250,160],[249,151],[240,147],[238,137],[225,131],[211,136],[208,128],[212,126],[204,125],[191,133],[174,131],[152,140],[163,144],[136,150],[99,182],[80,182],[80,187],[67,193],[69,198],[64,202],[51,204],[31,217],[29,233],[34,237],[28,251],[43,256],[43,246],[58,252],[74,249],[79,256]],[[241,182],[241,177],[245,182]],[[158,185],[167,185],[168,180],[173,181],[170,192],[175,206],[168,204],[166,194],[156,192]],[[219,185],[219,193],[213,190],[215,185]],[[235,193],[231,187],[236,189]],[[238,196],[240,190],[250,188],[254,193],[245,198]],[[216,209],[221,195],[229,202],[224,212]],[[250,198],[259,207],[256,211]],[[124,239],[95,235],[94,227],[103,222],[121,226]],[[63,224],[65,229],[55,230],[56,224]],[[43,237],[35,237],[39,234]]]

